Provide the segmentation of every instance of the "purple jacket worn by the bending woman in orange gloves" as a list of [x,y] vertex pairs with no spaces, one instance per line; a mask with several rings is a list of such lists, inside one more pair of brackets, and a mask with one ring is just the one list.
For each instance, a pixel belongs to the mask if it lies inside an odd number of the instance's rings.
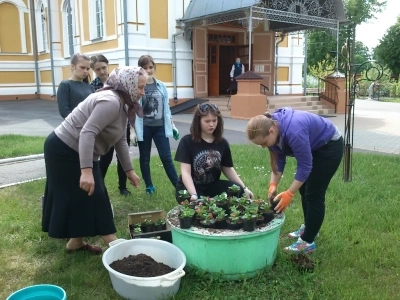
[[312,152],[332,139],[335,126],[326,118],[291,107],[277,109],[272,119],[278,122],[282,145],[282,150],[278,146],[269,148],[278,154],[278,171],[285,169],[286,156],[293,156],[297,160],[294,178],[306,181],[312,169]]

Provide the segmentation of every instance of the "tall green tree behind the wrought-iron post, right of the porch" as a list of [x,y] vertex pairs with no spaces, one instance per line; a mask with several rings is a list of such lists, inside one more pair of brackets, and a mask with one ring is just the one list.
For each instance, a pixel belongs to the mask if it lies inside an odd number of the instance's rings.
[[[349,38],[349,33],[352,27],[366,22],[376,13],[379,13],[386,6],[386,1],[380,0],[344,0],[344,6],[347,12],[349,24],[340,26],[339,30],[339,51],[346,40]],[[350,36],[350,38],[352,38]],[[307,65],[317,67],[318,62],[325,59],[325,55],[330,51],[336,51],[336,35],[329,30],[320,30],[311,32],[308,35],[308,51]],[[361,63],[363,60],[370,58],[369,49],[361,42],[355,44],[355,56],[353,63]]]

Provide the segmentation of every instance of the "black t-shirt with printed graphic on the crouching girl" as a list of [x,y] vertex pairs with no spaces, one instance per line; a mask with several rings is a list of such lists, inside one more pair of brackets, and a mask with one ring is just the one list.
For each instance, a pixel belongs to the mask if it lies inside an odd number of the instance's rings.
[[179,142],[175,160],[191,165],[195,185],[217,181],[222,167],[233,167],[231,150],[225,139],[218,143],[194,142],[191,135],[186,135]]

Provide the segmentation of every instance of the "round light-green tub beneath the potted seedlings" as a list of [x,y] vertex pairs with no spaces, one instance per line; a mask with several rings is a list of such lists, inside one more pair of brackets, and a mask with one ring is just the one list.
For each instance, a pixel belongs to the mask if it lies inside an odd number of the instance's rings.
[[173,244],[186,256],[186,265],[210,273],[219,273],[226,280],[250,278],[272,266],[278,249],[284,214],[275,217],[266,227],[253,232],[191,227],[181,229],[178,208],[168,212]]

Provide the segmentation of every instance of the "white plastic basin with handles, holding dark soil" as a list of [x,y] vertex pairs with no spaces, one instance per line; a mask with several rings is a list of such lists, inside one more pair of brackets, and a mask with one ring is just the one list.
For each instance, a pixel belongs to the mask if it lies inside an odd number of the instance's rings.
[[[134,277],[119,273],[110,267],[116,260],[137,254],[146,254],[156,262],[176,270],[157,277]],[[116,240],[104,252],[102,261],[110,274],[114,290],[121,297],[130,300],[168,299],[178,292],[181,277],[185,275],[185,254],[175,245],[160,240]]]

